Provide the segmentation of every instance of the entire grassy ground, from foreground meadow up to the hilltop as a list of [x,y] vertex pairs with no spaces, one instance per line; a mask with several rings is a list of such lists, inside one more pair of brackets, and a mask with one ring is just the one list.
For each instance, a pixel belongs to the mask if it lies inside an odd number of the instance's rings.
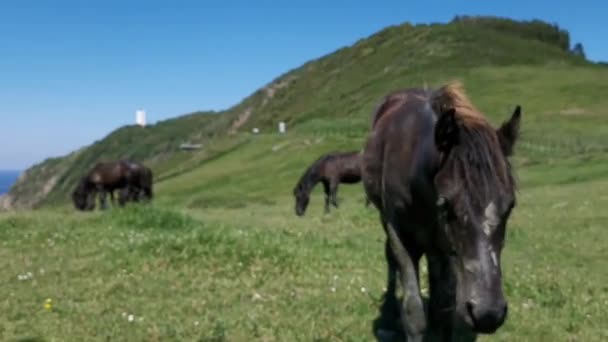
[[[357,184],[329,215],[316,188],[298,218],[291,190],[319,154],[362,147],[387,92],[453,78],[494,123],[523,107],[502,260],[509,317],[479,340],[608,340],[608,68],[536,25],[389,27],[226,112],[124,127],[32,168],[10,201],[39,210],[0,213],[0,340],[373,340],[386,278],[377,212]],[[73,210],[76,177],[118,157],[152,165],[154,202]]]

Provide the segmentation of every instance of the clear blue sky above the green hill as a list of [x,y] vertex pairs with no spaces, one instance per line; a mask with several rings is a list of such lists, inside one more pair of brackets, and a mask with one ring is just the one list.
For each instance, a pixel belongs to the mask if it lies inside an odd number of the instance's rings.
[[[382,4],[382,5],[381,5]],[[0,2],[0,169],[134,122],[225,109],[281,73],[388,25],[457,14],[539,18],[608,60],[602,1]]]

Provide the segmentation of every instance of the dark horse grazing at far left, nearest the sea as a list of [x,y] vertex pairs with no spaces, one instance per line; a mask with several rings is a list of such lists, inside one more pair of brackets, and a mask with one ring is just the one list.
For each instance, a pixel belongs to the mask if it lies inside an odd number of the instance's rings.
[[100,206],[105,209],[107,194],[110,194],[111,202],[115,203],[115,190],[120,190],[120,206],[127,201],[137,202],[140,197],[151,200],[152,178],[152,171],[140,163],[129,160],[98,162],[80,179],[72,193],[72,201],[79,210],[93,210],[95,196],[99,194]]

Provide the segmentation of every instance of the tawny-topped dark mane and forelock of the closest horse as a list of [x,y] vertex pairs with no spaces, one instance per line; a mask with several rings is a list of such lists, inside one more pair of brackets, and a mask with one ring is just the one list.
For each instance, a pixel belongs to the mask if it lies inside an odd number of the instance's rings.
[[[450,82],[435,90],[431,108],[438,114],[454,108],[460,126],[459,141],[448,160],[477,202],[490,200],[493,189],[514,186],[509,160],[504,156],[496,130],[469,100],[462,83]],[[487,205],[487,203],[478,203]]]

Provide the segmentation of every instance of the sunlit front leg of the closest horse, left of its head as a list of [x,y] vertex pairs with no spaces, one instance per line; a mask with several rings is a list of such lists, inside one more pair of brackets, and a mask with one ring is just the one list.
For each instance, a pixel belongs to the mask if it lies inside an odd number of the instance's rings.
[[424,305],[418,285],[418,261],[420,255],[412,253],[403,245],[397,230],[391,222],[386,224],[386,233],[392,254],[397,264],[403,298],[401,301],[401,324],[408,342],[422,342],[427,328]]

